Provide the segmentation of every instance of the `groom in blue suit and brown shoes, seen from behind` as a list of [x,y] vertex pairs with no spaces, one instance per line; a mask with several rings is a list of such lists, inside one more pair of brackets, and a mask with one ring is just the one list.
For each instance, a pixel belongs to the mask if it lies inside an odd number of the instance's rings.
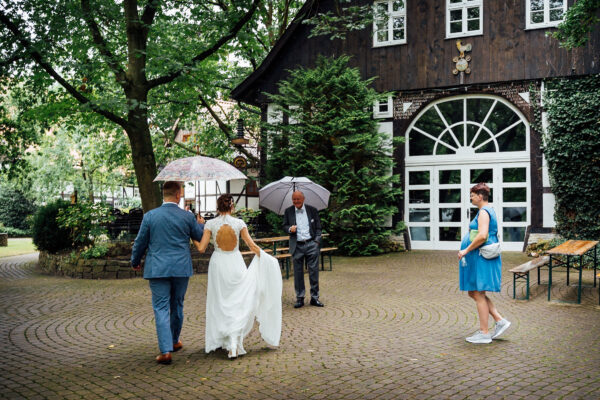
[[148,211],[133,244],[131,265],[141,268],[146,254],[144,279],[150,283],[152,308],[156,320],[156,335],[160,355],[159,364],[171,363],[171,352],[180,350],[179,340],[183,325],[183,300],[188,281],[192,276],[190,239],[201,240],[204,219],[198,221],[194,214],[179,208],[181,184],[166,182],[163,185],[163,204]]

